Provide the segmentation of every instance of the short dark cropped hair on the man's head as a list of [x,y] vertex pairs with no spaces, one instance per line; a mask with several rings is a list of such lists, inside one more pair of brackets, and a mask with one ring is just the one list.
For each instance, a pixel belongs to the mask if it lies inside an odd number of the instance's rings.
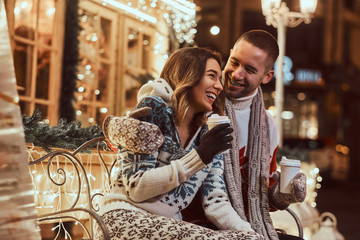
[[247,41],[268,53],[268,58],[271,60],[271,67],[274,65],[277,57],[279,56],[279,46],[276,38],[264,30],[251,30],[242,34],[235,45],[241,40]]

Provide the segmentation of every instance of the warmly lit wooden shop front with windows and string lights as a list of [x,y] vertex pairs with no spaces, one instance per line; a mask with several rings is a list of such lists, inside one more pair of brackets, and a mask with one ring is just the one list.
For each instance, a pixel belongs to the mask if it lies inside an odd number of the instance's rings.
[[63,115],[88,126],[125,114],[140,86],[196,32],[195,4],[187,0],[5,4],[22,113],[39,110],[52,125]]

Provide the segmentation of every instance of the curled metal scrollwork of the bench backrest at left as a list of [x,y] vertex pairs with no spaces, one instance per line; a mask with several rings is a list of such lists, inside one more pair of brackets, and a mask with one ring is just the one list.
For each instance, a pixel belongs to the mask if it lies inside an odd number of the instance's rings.
[[[90,177],[91,173],[89,174],[86,171],[86,167],[84,163],[81,161],[81,158],[79,157],[80,154],[84,154],[83,151],[89,147],[93,147],[96,144],[96,155],[97,159],[99,160],[100,167],[98,168],[99,171],[101,171],[101,176],[105,175],[105,183],[104,181],[101,183],[101,189],[100,192],[92,192],[91,189],[91,182]],[[67,181],[70,181],[68,183],[70,185],[70,188],[75,188],[75,190],[71,193],[73,200],[70,201],[70,206],[65,207],[57,207],[56,211],[46,213],[46,214],[40,214],[38,216],[39,221],[54,221],[59,220],[62,221],[62,219],[70,219],[73,221],[76,221],[80,223],[81,227],[84,229],[86,235],[92,239],[94,236],[93,232],[93,221],[95,220],[99,226],[103,229],[105,239],[109,239],[108,232],[105,228],[104,223],[102,222],[99,215],[96,213],[98,211],[98,208],[96,204],[94,203],[94,199],[97,196],[103,196],[103,194],[106,192],[106,188],[104,185],[110,186],[111,184],[111,172],[114,169],[114,166],[116,164],[116,156],[115,154],[111,153],[113,158],[110,158],[111,161],[107,161],[107,163],[104,161],[102,152],[108,151],[109,148],[107,147],[106,141],[104,137],[94,138],[91,139],[84,144],[82,144],[80,147],[78,147],[74,151],[67,151],[67,150],[55,150],[52,151],[36,160],[29,161],[29,165],[35,166],[39,164],[44,164],[47,162],[47,167],[45,169],[45,172],[47,173],[47,178],[51,181],[51,183],[56,186],[57,188],[65,188]],[[91,154],[94,152],[92,151]],[[92,157],[92,156],[90,156]],[[61,158],[61,160],[59,160]],[[69,163],[72,166],[71,170],[72,173],[69,174],[67,172],[69,168]],[[90,163],[90,165],[92,165]],[[88,166],[92,167],[92,166]],[[69,180],[69,176],[71,176],[71,180]],[[95,180],[97,181],[97,180]],[[35,186],[36,187],[36,186]],[[83,191],[83,188],[85,188],[85,191]],[[61,190],[61,195],[64,195],[63,198],[66,198],[66,191]],[[84,207],[80,204],[80,199],[85,199]],[[60,200],[60,205],[61,205]],[[77,217],[74,217],[74,213],[85,213],[87,214],[87,219],[89,226],[88,228],[83,224],[84,219],[80,220]],[[89,230],[88,230],[89,229]]]

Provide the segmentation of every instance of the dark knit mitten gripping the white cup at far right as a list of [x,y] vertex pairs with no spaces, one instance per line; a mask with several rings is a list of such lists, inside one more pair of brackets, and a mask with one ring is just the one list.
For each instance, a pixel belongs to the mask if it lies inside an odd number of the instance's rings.
[[284,210],[291,203],[302,202],[306,197],[306,175],[299,172],[291,180],[291,193],[280,192],[280,173],[275,172],[273,179],[276,183],[271,187],[269,191],[269,203],[271,206]]

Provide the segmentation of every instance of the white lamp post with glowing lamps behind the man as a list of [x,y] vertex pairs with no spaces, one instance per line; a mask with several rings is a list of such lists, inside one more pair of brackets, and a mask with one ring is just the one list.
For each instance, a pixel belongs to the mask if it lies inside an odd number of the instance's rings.
[[315,12],[317,0],[300,0],[300,12],[291,12],[281,0],[261,0],[262,12],[267,25],[277,28],[279,57],[276,66],[275,108],[276,124],[280,134],[280,147],[283,141],[281,113],[284,103],[283,58],[285,56],[286,28],[296,27],[304,22],[309,24]]

